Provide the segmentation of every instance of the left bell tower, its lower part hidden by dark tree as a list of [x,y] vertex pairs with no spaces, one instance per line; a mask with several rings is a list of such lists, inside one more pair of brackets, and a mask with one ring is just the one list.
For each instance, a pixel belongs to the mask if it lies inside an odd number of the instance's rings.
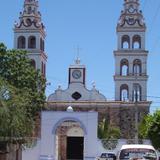
[[25,0],[19,22],[14,26],[14,48],[26,50],[33,67],[45,76],[47,55],[45,53],[45,27],[38,11],[37,0]]

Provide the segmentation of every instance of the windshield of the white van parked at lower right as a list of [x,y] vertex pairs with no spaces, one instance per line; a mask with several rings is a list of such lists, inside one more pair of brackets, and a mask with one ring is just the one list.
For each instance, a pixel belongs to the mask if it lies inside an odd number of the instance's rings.
[[151,149],[124,149],[120,153],[120,160],[157,160],[157,155],[154,150]]

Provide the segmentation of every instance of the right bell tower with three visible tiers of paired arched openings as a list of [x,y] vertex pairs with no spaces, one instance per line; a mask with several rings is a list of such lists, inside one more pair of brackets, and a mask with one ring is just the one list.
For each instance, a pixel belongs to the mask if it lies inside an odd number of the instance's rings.
[[139,0],[124,0],[117,24],[115,57],[115,100],[147,101],[146,25]]

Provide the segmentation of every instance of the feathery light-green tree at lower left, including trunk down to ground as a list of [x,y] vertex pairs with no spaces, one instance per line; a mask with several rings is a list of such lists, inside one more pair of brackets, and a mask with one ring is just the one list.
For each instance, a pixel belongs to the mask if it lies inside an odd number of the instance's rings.
[[[0,79],[0,159],[5,159],[6,153],[20,153],[21,144],[28,143],[26,137],[32,137],[35,125],[27,109],[27,95]],[[18,155],[13,155],[12,159],[17,159]]]

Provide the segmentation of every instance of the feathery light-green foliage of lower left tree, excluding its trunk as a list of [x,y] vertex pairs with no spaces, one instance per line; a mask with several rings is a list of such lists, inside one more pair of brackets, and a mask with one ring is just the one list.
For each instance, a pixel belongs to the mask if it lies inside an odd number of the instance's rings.
[[30,136],[34,121],[27,111],[29,99],[26,92],[0,79],[0,140],[16,141]]

